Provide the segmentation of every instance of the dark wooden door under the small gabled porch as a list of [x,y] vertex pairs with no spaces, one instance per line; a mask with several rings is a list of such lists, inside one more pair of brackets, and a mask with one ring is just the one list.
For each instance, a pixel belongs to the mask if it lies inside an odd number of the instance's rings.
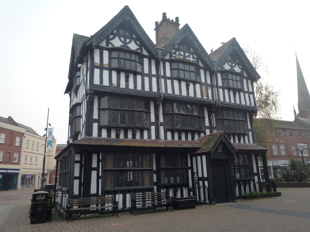
[[227,189],[227,161],[216,159],[212,162],[212,186],[215,203],[228,202],[228,189]]

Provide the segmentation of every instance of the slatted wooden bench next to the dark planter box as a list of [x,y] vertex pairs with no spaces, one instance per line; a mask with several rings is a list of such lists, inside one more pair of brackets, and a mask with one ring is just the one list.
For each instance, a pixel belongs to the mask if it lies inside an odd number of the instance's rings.
[[166,210],[171,208],[171,212],[174,212],[173,206],[171,204],[170,197],[166,192],[151,192],[151,193],[131,193],[131,209],[135,212],[135,216],[137,216],[137,205],[142,205],[142,210],[144,205],[152,205],[153,207],[162,207],[162,204],[166,204]]

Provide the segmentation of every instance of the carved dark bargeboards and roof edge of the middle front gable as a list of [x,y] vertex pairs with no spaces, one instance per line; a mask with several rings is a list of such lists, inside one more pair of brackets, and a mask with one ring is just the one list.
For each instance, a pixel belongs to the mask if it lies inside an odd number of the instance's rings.
[[162,58],[165,58],[166,55],[175,48],[175,45],[177,45],[180,41],[182,41],[185,37],[188,37],[194,47],[194,50],[199,53],[200,57],[202,58],[202,61],[211,69],[214,70],[214,65],[211,61],[211,58],[209,57],[208,53],[204,49],[204,47],[201,45],[199,40],[197,39],[196,35],[192,31],[192,29],[188,26],[188,24],[185,24],[175,35],[167,41],[161,48],[162,51]]

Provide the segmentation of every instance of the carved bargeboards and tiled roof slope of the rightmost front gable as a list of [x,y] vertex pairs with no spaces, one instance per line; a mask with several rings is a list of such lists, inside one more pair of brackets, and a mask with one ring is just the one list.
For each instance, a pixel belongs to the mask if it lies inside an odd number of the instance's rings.
[[224,64],[226,58],[229,56],[229,54],[232,52],[233,49],[235,49],[237,51],[241,60],[244,62],[245,66],[246,66],[246,70],[251,75],[249,77],[252,77],[252,78],[258,80],[260,78],[259,74],[254,69],[254,67],[251,64],[251,62],[249,61],[249,59],[246,57],[246,54],[244,53],[244,51],[240,47],[240,45],[237,42],[235,37],[233,37],[228,42],[224,43],[222,46],[220,46],[218,49],[216,49],[215,51],[213,51],[210,54],[210,58],[212,60],[217,61],[215,69],[219,70],[221,68],[221,66]]

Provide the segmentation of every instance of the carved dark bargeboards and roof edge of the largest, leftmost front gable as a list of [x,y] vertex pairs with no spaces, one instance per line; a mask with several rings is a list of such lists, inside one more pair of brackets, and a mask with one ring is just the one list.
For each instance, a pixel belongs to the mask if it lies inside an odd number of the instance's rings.
[[[146,45],[146,48],[158,58],[158,52],[153,41],[148,37],[142,26],[139,24],[135,15],[130,10],[129,6],[124,6],[124,8],[118,12],[107,24],[105,24],[99,31],[97,31],[91,38],[84,42],[81,48],[81,53],[85,52],[87,47],[97,46],[103,41],[111,32],[113,32],[120,24],[124,21],[129,22],[134,30],[136,31],[136,36],[140,37],[141,40]],[[81,54],[84,55],[84,54]]]

